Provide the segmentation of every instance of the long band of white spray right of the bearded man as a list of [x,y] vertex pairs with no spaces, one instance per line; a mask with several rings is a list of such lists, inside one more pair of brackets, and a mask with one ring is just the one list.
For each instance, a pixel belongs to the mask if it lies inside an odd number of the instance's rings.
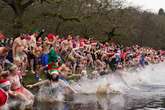
[[113,74],[98,77],[97,79],[80,80],[72,84],[79,93],[95,94],[99,89],[105,89],[106,93],[112,90],[121,93],[129,90],[142,90],[145,86],[165,86],[165,63],[137,68],[135,70],[117,71]]

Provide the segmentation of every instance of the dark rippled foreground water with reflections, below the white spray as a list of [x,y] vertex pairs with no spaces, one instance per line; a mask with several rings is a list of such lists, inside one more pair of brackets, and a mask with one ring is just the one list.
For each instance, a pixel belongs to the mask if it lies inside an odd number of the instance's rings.
[[165,97],[161,97],[75,95],[65,102],[37,102],[34,110],[165,110]]

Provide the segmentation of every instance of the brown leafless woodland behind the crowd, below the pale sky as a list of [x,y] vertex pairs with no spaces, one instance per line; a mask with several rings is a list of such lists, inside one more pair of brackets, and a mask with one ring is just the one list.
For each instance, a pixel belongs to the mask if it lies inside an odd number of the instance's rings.
[[125,0],[0,0],[0,32],[17,37],[43,28],[45,35],[72,34],[165,49],[164,10],[151,13],[125,5]]

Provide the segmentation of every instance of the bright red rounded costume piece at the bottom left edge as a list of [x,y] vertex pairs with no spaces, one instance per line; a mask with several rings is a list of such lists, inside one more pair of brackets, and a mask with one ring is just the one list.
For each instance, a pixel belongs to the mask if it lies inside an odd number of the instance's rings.
[[0,107],[5,105],[8,99],[6,92],[0,88]]

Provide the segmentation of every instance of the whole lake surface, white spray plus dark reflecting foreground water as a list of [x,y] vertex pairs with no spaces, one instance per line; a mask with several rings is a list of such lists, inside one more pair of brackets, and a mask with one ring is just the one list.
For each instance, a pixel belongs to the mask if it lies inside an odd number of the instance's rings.
[[[59,103],[53,103],[51,106],[50,103],[48,105],[39,103],[36,110],[56,107],[58,110],[61,110],[61,107],[68,107],[67,110],[163,110],[165,108],[164,66],[165,63],[160,63],[145,68],[117,71],[96,79],[83,78],[71,84],[78,94],[64,102],[63,106],[58,105]],[[39,96],[45,97],[46,95],[43,94],[45,91],[51,91],[49,89],[49,87],[42,88]],[[112,90],[120,93],[109,94]],[[105,94],[97,94],[98,91]],[[53,98],[52,96],[56,96],[57,93],[53,93],[50,97]],[[63,97],[63,94],[60,97]]]

